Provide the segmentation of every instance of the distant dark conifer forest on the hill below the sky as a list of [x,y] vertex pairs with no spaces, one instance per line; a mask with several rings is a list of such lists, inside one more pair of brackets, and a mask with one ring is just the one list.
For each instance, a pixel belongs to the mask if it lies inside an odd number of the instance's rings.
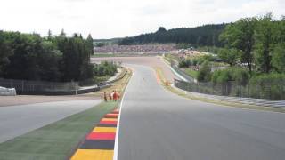
[[191,44],[193,46],[222,46],[218,36],[224,30],[226,24],[205,25],[197,28],[160,27],[155,33],[142,34],[140,36],[123,38],[119,44]]

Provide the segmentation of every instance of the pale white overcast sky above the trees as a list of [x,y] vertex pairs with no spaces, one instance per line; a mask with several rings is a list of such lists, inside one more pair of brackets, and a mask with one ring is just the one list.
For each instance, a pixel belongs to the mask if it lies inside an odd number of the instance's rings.
[[136,36],[160,26],[189,28],[232,22],[273,12],[285,15],[285,0],[0,0],[0,30],[39,33],[63,28],[94,39]]

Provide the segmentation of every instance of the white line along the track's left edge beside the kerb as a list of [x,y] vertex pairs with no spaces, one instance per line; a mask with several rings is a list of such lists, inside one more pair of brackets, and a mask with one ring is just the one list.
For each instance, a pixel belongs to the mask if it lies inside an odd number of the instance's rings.
[[[132,69],[132,76],[134,75],[134,69]],[[131,81],[131,78],[129,79],[129,82]],[[129,83],[128,82],[128,83]],[[126,89],[128,87],[128,84],[126,86]],[[122,115],[122,108],[123,108],[123,101],[125,100],[125,95],[126,95],[126,89],[123,95],[123,98],[121,100],[121,103],[119,105],[119,112],[118,112],[118,122],[117,122],[117,129],[116,129],[116,138],[115,138],[115,146],[114,146],[114,156],[113,156],[113,160],[118,160],[118,132],[119,132],[119,121],[121,119],[121,115]]]

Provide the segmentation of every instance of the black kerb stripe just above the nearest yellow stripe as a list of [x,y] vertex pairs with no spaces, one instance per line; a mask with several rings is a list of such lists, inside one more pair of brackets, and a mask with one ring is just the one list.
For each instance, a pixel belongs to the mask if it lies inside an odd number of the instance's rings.
[[85,140],[81,149],[114,149],[115,140]]

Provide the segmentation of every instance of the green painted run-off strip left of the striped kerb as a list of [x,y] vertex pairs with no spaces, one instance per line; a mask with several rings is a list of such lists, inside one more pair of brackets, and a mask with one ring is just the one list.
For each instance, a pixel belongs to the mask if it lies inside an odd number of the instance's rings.
[[94,108],[1,143],[0,159],[67,159],[102,116],[117,106],[115,102],[102,102]]

